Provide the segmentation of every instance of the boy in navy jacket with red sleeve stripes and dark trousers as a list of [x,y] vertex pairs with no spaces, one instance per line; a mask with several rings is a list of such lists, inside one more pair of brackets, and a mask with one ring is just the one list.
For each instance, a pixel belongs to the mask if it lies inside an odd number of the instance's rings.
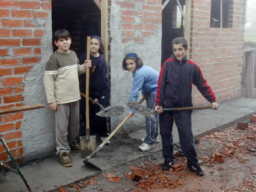
[[192,85],[207,99],[213,109],[218,109],[216,98],[203,78],[199,66],[186,57],[189,51],[188,41],[183,37],[172,41],[173,55],[166,60],[161,68],[156,92],[155,110],[159,115],[160,134],[162,137],[162,154],[165,158],[162,170],[169,170],[174,164],[173,155],[173,122],[178,129],[180,145],[184,156],[188,159],[188,169],[197,175],[203,176],[198,165],[193,140],[191,113],[192,111],[164,112],[163,108],[186,107],[192,104]]

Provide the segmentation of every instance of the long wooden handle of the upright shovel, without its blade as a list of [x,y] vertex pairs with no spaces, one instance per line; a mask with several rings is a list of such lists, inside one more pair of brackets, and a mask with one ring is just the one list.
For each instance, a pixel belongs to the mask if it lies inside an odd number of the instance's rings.
[[[87,37],[87,54],[86,60],[90,60],[90,43],[91,37]],[[89,79],[90,79],[90,68],[86,67],[86,97],[85,97],[85,104],[86,104],[86,139],[90,140],[90,127],[89,127]]]

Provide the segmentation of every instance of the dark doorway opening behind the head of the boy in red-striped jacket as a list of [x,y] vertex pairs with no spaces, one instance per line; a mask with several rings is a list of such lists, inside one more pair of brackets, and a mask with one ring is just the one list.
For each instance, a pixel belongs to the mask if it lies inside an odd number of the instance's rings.
[[[162,0],[164,4],[166,0]],[[185,13],[185,0],[179,0]],[[172,41],[184,37],[185,22],[176,0],[170,0],[162,10],[162,59],[161,66],[172,54]]]

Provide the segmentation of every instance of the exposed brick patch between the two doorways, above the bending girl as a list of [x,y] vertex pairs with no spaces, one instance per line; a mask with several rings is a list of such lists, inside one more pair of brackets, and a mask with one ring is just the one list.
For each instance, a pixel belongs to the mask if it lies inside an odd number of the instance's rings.
[[[143,43],[143,38],[151,36],[156,26],[162,24],[162,0],[126,0],[116,3],[121,7],[122,43],[129,40]],[[142,3],[140,10],[135,8],[137,3]]]

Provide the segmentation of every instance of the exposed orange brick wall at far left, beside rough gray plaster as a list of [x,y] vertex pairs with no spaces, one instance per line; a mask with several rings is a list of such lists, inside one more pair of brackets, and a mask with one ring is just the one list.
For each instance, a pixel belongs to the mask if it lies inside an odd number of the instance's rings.
[[[44,21],[50,11],[51,0],[0,0],[0,109],[24,105],[24,80],[41,60]],[[22,119],[23,112],[0,116],[0,134],[20,160]],[[0,145],[0,161],[7,159]]]

